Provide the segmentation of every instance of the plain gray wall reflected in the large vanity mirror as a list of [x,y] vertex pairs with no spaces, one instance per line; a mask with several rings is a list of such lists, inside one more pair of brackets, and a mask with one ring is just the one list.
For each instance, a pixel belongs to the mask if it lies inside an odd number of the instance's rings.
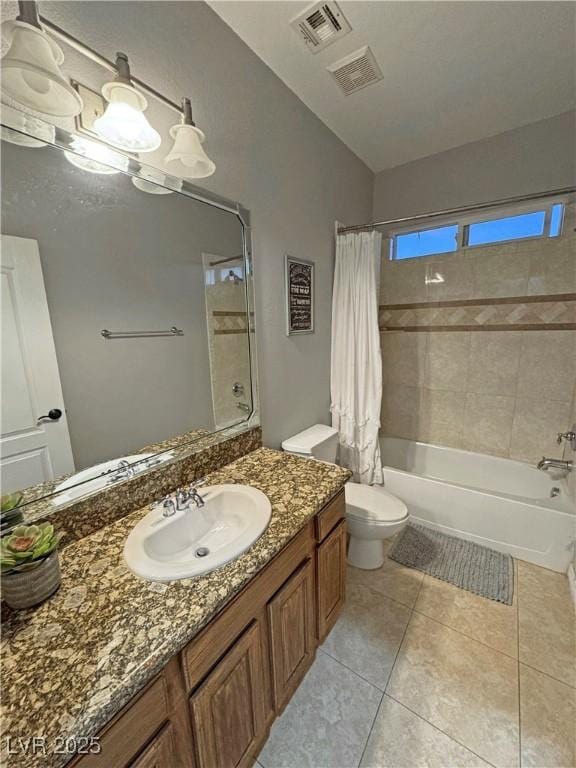
[[38,242],[76,469],[212,429],[202,253],[241,251],[236,216],[5,142],[2,192],[2,232]]

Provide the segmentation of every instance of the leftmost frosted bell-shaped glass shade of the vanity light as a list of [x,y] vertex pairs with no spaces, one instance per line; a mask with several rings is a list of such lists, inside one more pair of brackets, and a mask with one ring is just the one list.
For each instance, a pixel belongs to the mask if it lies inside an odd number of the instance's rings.
[[2,59],[2,90],[25,107],[56,117],[73,117],[82,99],[60,72],[62,49],[38,27],[8,21],[10,48]]

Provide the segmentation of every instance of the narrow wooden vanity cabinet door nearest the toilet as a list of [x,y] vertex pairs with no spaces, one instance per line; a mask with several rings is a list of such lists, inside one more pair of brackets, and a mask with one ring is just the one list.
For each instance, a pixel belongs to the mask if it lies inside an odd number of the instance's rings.
[[318,640],[332,629],[346,596],[346,521],[342,520],[316,550]]

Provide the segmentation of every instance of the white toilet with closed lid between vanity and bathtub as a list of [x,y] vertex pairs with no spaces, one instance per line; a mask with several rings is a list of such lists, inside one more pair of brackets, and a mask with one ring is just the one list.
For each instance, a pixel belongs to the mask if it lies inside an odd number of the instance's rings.
[[[295,456],[334,463],[338,431],[315,424],[284,440],[282,449]],[[355,568],[380,568],[384,562],[384,539],[401,531],[408,522],[406,504],[376,485],[347,483],[345,493],[350,534],[348,562]]]

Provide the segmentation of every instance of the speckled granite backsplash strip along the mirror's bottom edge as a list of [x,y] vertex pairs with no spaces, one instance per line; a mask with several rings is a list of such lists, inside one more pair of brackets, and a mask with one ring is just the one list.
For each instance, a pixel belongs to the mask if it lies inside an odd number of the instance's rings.
[[54,506],[49,496],[40,499],[24,507],[26,520],[49,520],[64,531],[65,547],[262,445],[260,427],[240,426],[212,434],[198,430],[194,434],[197,436],[193,442],[182,444],[181,438],[173,438],[143,449],[172,449],[174,457],[170,463],[60,508]]

